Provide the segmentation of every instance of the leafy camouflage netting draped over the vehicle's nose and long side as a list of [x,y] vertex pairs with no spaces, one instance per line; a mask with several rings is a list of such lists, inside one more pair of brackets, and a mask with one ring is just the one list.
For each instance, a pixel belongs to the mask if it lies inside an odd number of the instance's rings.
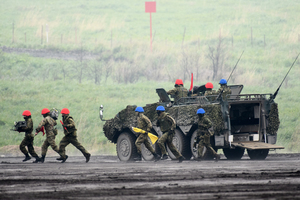
[[[150,119],[153,125],[156,125],[157,114],[156,108],[159,103],[148,104],[144,107],[144,114]],[[103,126],[105,136],[112,142],[116,143],[116,136],[126,128],[136,126],[136,106],[127,106],[126,109],[120,111],[113,119],[107,120]],[[177,126],[188,126],[198,122],[197,110],[203,108],[209,119],[213,122],[215,134],[220,133],[224,129],[220,105],[184,105],[166,108],[166,112],[172,116]]]

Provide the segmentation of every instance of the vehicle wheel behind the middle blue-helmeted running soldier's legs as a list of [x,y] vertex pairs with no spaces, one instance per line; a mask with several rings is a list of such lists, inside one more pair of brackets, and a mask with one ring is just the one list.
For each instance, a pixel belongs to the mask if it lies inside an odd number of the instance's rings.
[[[173,137],[173,144],[177,148],[177,150],[185,157],[185,159],[190,159],[192,157],[191,147],[190,147],[190,139],[183,135],[183,133],[179,129],[175,129],[175,135]],[[175,160],[176,157],[171,152],[167,145],[167,151],[172,160]]]

